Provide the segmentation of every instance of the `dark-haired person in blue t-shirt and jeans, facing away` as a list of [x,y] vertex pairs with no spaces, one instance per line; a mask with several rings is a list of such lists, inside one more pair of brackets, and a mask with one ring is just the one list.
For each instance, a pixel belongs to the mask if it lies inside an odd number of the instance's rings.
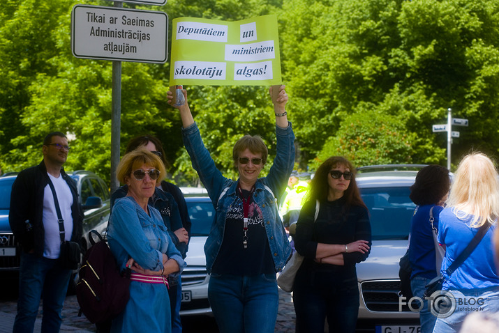
[[[412,267],[410,288],[412,295],[423,300],[419,311],[421,333],[433,332],[437,317],[433,316],[428,300],[424,299],[426,284],[440,272],[440,261],[436,261],[433,228],[438,230],[438,215],[443,209],[449,194],[449,170],[440,165],[429,165],[419,170],[414,185],[410,187],[410,199],[416,209],[410,222],[409,261]],[[433,227],[430,222],[430,211],[433,216]],[[439,245],[440,246],[440,245]]]

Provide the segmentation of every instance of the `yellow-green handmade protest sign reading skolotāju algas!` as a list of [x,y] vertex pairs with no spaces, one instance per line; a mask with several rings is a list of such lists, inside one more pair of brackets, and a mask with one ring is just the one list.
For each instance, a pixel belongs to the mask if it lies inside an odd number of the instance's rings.
[[282,84],[276,15],[173,20],[170,86]]

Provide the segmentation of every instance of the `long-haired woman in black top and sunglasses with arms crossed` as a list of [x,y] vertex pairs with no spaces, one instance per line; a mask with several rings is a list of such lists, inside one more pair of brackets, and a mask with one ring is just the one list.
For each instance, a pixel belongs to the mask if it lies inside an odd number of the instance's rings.
[[354,171],[344,157],[329,157],[315,173],[308,201],[301,208],[295,247],[305,259],[293,292],[297,332],[322,333],[325,318],[329,332],[355,332],[359,309],[355,264],[369,254],[371,224]]

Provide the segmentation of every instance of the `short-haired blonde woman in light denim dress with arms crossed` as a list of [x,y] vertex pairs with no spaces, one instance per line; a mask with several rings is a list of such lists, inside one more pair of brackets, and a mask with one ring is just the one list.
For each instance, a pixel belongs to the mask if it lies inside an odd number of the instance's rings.
[[[131,268],[130,299],[112,320],[111,332],[172,332],[167,277],[185,263],[156,208],[149,206],[156,184],[165,175],[160,158],[147,150],[126,154],[117,168],[128,193],[114,203],[109,240],[119,268]],[[172,218],[179,214],[172,215]]]

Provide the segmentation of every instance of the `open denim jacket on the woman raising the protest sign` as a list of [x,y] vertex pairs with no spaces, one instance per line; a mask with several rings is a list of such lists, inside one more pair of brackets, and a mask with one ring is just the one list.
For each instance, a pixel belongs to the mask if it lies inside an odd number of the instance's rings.
[[[211,226],[207,242],[204,245],[206,268],[210,274],[223,242],[225,216],[237,198],[236,189],[239,180],[225,178],[221,171],[216,169],[214,160],[207,148],[204,147],[196,123],[183,128],[182,134],[193,168],[198,171],[198,175],[216,209],[214,224]],[[280,199],[283,195],[295,162],[295,146],[293,144],[295,134],[293,134],[291,123],[286,128],[276,126],[276,138],[277,153],[274,164],[272,164],[267,177],[258,178],[255,192],[253,192],[253,201],[262,210],[267,239],[274,259],[274,269],[279,272],[291,255],[288,236],[278,214],[278,200],[276,199]]]

